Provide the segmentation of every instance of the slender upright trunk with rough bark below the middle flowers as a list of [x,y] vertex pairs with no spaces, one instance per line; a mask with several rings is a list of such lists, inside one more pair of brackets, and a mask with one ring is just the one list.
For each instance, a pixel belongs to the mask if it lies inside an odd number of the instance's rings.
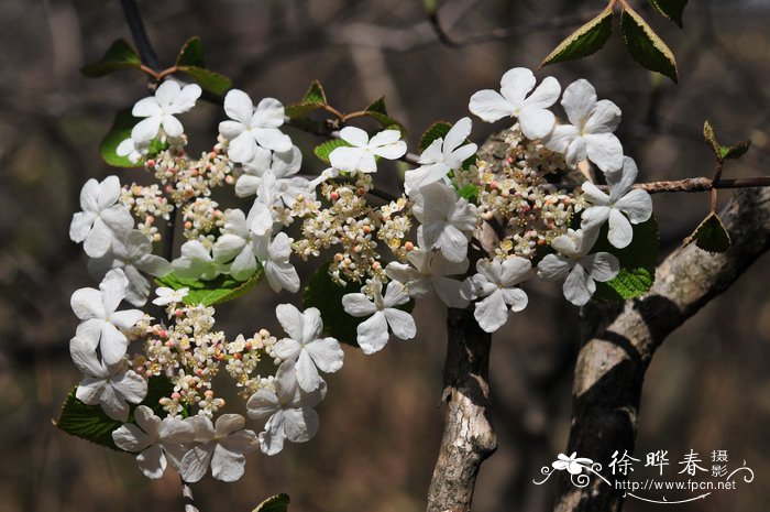
[[470,511],[479,468],[497,448],[487,383],[492,336],[466,309],[448,311],[447,330],[447,416],[428,512]]

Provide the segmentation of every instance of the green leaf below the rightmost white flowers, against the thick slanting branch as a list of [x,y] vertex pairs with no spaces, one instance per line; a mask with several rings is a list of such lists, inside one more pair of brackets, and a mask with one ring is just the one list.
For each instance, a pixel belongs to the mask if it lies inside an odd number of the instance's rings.
[[652,287],[659,249],[658,221],[654,216],[634,226],[634,240],[625,249],[616,249],[607,241],[607,225],[602,228],[592,252],[609,252],[620,261],[617,276],[606,283],[596,283],[595,298],[623,302],[638,297]]

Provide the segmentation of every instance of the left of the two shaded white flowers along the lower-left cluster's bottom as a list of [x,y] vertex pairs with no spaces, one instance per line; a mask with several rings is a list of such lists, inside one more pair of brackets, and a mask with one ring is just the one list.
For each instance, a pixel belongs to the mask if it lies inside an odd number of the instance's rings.
[[112,432],[116,446],[125,451],[139,453],[139,468],[147,478],[161,478],[166,470],[166,459],[178,471],[187,450],[183,445],[195,439],[193,423],[179,417],[161,420],[146,405],[136,407],[134,420],[136,425],[125,423]]

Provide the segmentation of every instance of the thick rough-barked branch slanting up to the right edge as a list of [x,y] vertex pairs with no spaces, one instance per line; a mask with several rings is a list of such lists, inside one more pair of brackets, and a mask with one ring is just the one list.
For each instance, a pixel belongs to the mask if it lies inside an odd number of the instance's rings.
[[[711,254],[694,244],[675,250],[658,268],[645,296],[586,312],[587,333],[575,368],[566,454],[607,464],[615,450],[634,451],[645,372],[666,337],[726,291],[770,248],[770,189],[735,195],[724,214],[733,247]],[[584,489],[561,475],[554,511],[617,512],[623,491],[598,479]]]

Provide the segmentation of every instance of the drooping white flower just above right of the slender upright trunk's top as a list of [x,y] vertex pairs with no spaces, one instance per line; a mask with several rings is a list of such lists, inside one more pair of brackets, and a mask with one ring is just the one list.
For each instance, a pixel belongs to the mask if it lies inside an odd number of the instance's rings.
[[527,294],[516,285],[528,280],[531,270],[532,263],[520,257],[476,262],[479,273],[463,282],[461,292],[469,299],[485,297],[473,312],[482,329],[494,333],[503,327],[508,320],[508,306],[513,312],[527,307]]

